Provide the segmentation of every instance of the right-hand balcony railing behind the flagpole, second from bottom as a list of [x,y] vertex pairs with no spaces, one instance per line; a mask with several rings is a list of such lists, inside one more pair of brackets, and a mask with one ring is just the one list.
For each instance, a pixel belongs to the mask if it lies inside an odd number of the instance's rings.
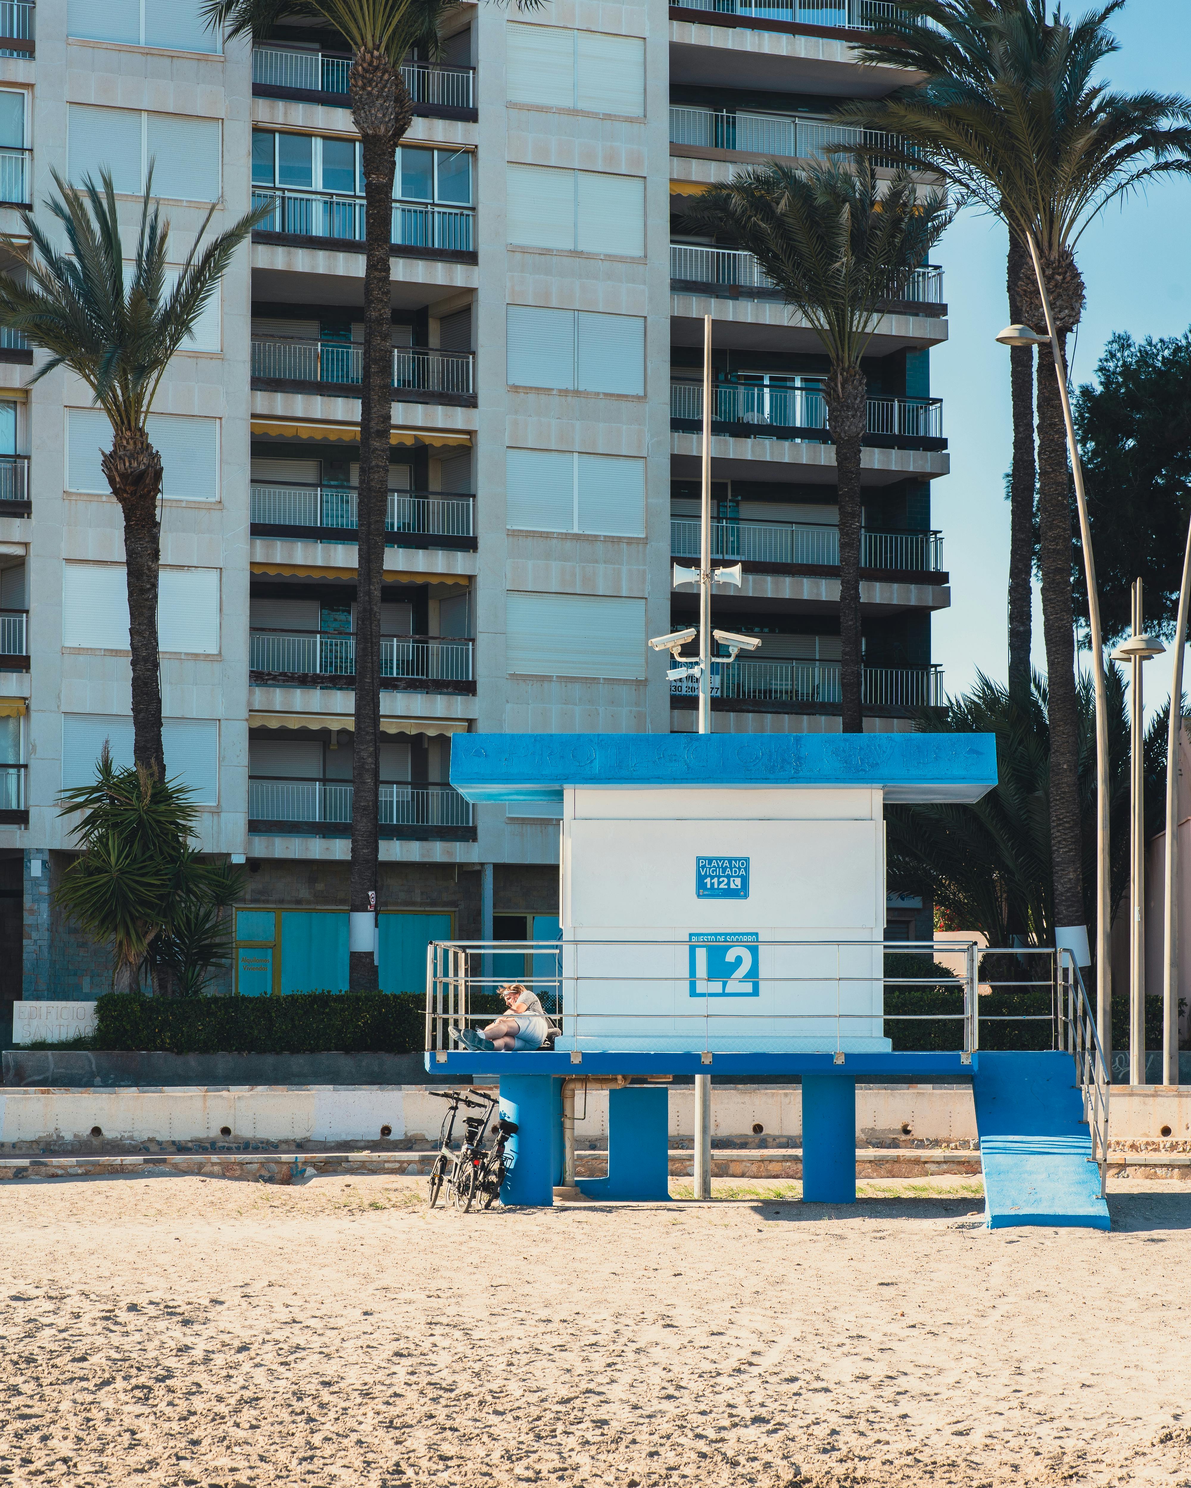
[[[674,558],[698,558],[700,524],[694,518],[670,519],[670,552]],[[832,568],[840,562],[840,528],[811,522],[712,522],[712,557]],[[860,567],[935,573],[942,568],[942,534],[863,531]]]

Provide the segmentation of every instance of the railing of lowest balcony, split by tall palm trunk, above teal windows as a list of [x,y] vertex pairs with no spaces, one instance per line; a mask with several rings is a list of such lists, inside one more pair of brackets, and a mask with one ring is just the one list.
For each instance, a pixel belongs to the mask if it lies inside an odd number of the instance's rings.
[[[350,781],[249,777],[249,832],[261,836],[350,836]],[[472,804],[453,786],[381,784],[377,815],[383,838],[475,838]]]

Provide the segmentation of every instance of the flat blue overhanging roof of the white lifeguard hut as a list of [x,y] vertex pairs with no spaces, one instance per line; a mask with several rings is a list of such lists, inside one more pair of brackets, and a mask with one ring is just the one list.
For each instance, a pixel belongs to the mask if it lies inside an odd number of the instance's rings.
[[996,786],[992,734],[456,734],[467,801],[561,802],[566,786],[859,786],[972,802]]

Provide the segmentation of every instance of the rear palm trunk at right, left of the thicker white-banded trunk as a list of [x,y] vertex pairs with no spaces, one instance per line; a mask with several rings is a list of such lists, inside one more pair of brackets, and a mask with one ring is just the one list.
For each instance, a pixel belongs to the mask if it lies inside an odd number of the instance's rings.
[[[1009,234],[1006,281],[1009,320],[1023,317],[1018,284],[1029,254]],[[1030,696],[1030,610],[1033,576],[1033,501],[1038,479],[1033,452],[1033,348],[1009,351],[1009,391],[1014,418],[1014,458],[1009,473],[1009,693],[1023,704]]]

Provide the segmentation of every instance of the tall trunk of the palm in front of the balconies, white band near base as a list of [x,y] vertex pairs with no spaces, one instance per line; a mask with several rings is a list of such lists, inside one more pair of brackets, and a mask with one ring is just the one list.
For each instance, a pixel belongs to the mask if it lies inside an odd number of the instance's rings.
[[[380,906],[381,583],[389,503],[389,430],[393,421],[392,256],[396,147],[414,116],[400,74],[383,52],[357,52],[351,109],[360,131],[365,179],[363,371],[360,376],[360,479],[356,585],[356,737],[353,748],[353,914]],[[348,954],[351,991],[375,991],[372,951]]]

